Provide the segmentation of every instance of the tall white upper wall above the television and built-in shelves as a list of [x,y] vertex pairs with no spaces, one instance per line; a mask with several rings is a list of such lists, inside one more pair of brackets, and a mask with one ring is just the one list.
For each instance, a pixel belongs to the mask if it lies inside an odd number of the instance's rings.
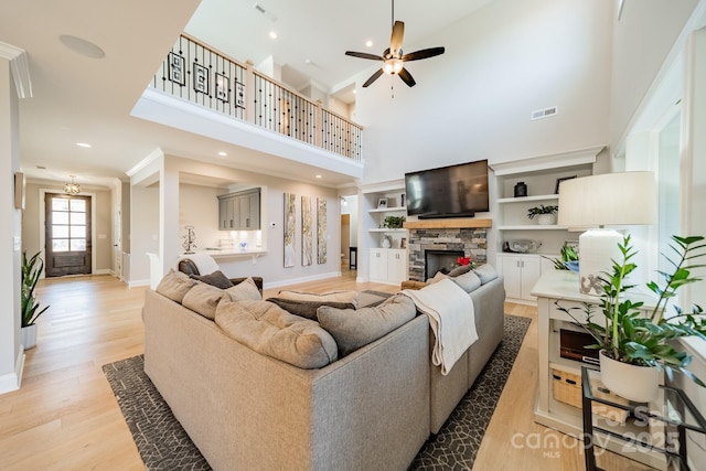
[[[446,53],[407,64],[417,85],[382,76],[360,88],[364,183],[406,171],[606,144],[612,2],[496,0],[406,51]],[[605,32],[597,34],[597,32]],[[531,113],[558,106],[532,121]]]

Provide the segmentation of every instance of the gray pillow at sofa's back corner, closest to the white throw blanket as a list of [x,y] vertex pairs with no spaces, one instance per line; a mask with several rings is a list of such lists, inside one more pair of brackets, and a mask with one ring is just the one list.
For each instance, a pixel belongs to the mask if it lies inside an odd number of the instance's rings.
[[339,345],[339,355],[367,345],[415,318],[417,309],[411,299],[395,295],[374,308],[319,308],[318,319]]

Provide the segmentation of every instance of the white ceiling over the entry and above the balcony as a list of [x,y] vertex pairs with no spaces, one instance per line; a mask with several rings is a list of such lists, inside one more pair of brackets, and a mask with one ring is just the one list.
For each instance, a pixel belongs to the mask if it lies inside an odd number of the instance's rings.
[[[405,22],[405,51],[462,47],[425,43],[425,38],[490,1],[397,1],[395,19]],[[23,170],[33,178],[66,181],[74,174],[78,183],[101,184],[125,180],[127,170],[158,148],[214,160],[218,142],[129,115],[182,31],[240,62],[252,60],[257,66],[271,57],[281,67],[282,82],[295,87],[313,81],[334,93],[378,65],[345,56],[346,50],[379,54],[389,42],[389,2],[257,4],[265,13],[252,0],[0,0],[0,42],[26,52],[32,79],[33,96],[20,100]],[[90,41],[105,57],[77,54],[62,44],[63,34]],[[374,45],[366,49],[366,41]],[[414,65],[408,68],[414,74]]]

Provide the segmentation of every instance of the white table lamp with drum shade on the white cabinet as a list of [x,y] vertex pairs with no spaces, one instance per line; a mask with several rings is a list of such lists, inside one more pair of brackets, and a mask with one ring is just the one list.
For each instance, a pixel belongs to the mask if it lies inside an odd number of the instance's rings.
[[620,260],[623,236],[606,226],[656,224],[656,182],[652,172],[622,172],[565,180],[559,185],[558,225],[587,228],[579,237],[579,289],[600,296],[599,278]]

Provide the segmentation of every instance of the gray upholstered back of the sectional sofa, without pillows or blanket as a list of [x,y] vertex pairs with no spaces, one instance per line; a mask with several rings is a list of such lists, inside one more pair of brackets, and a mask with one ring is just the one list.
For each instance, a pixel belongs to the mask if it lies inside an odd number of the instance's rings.
[[502,278],[469,296],[480,340],[442,376],[426,315],[304,370],[149,290],[145,371],[215,470],[404,470],[502,339]]

